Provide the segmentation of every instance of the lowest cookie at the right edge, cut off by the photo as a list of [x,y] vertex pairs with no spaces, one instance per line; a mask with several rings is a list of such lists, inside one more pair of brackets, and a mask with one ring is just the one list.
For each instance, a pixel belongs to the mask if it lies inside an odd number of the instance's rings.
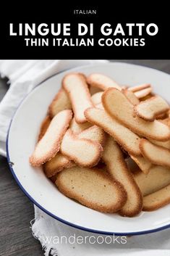
[[170,203],[170,184],[143,198],[143,210],[157,210]]

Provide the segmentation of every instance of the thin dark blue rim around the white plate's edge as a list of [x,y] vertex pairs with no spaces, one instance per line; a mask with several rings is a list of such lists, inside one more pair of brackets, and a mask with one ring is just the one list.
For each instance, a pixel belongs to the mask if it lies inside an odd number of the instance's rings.
[[[133,65],[133,64],[129,64],[129,63],[126,63],[126,62],[115,62],[115,63],[119,63],[119,64],[127,64],[127,65]],[[86,67],[87,65],[83,66],[83,67]],[[141,65],[136,65],[136,66],[141,66]],[[142,66],[143,67],[143,66]],[[150,68],[150,67],[148,67]],[[75,68],[76,69],[76,68]],[[153,70],[155,70],[154,68],[151,68]],[[73,69],[72,69],[73,70]],[[158,70],[160,72],[160,70]],[[161,71],[161,73],[164,73]],[[52,75],[51,77],[55,76],[55,75],[59,75],[59,73],[57,74],[54,74]],[[46,80],[50,79],[51,77],[47,78]],[[43,82],[45,82],[46,80],[43,80],[40,84],[38,84],[38,86],[41,86],[41,84]],[[36,86],[35,88],[38,88],[38,86]],[[35,89],[34,88],[34,89]],[[33,89],[33,91],[34,91]],[[29,96],[31,93],[33,93],[33,91],[30,91],[29,94],[27,94],[27,96]],[[25,99],[27,99],[27,96],[25,96]],[[25,101],[25,99],[22,100],[22,102]],[[21,107],[22,105],[22,102],[20,103],[20,105],[17,107],[17,110]],[[17,110],[16,112],[14,113],[14,116],[16,115],[17,113]],[[14,116],[12,118],[12,120],[14,119]],[[158,232],[158,231],[163,231],[167,228],[170,228],[170,223],[166,226],[162,226],[160,228],[154,228],[154,229],[150,229],[150,230],[146,230],[146,231],[139,231],[139,232],[127,232],[127,233],[118,233],[118,232],[107,232],[107,231],[100,231],[100,230],[95,230],[95,229],[91,229],[91,228],[85,228],[83,226],[79,226],[79,225],[76,225],[74,223],[70,223],[69,221],[67,220],[63,220],[61,218],[59,218],[58,216],[54,215],[53,213],[49,212],[48,210],[46,210],[44,207],[42,207],[38,202],[35,201],[35,199],[33,199],[33,197],[30,196],[30,194],[27,193],[27,191],[25,190],[25,188],[22,186],[22,184],[20,183],[20,181],[18,180],[17,176],[15,175],[14,173],[14,169],[12,168],[12,165],[10,165],[10,157],[9,157],[9,132],[10,132],[10,128],[11,128],[11,125],[12,125],[12,120],[11,120],[11,123],[9,125],[9,129],[8,129],[8,133],[7,133],[7,140],[6,140],[6,150],[7,150],[7,161],[8,161],[8,165],[9,165],[9,170],[11,171],[12,173],[12,176],[14,176],[14,179],[15,181],[17,182],[18,186],[20,187],[20,189],[22,190],[22,192],[25,194],[25,196],[30,199],[31,202],[33,202],[34,205],[36,205],[39,209],[41,209],[43,212],[45,212],[47,215],[51,216],[52,218],[56,219],[56,220],[59,220],[61,223],[64,223],[66,224],[67,226],[71,226],[72,228],[78,228],[82,231],[87,231],[87,232],[91,232],[91,233],[94,233],[94,234],[103,234],[103,235],[109,235],[109,236],[139,236],[139,235],[145,235],[145,234],[152,234],[152,233],[155,233],[155,232]]]

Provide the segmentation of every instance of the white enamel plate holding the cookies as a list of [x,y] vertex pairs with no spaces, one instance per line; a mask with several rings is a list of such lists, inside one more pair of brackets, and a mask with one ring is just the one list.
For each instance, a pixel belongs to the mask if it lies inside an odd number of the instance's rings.
[[[156,93],[169,101],[170,75],[148,67],[111,63],[76,68],[78,72],[103,73],[118,83],[135,86],[151,83]],[[101,234],[147,234],[170,227],[170,205],[154,212],[142,212],[135,218],[104,214],[65,197],[43,174],[29,165],[38,131],[48,105],[69,71],[54,75],[35,88],[14,115],[7,139],[7,158],[12,174],[29,199],[44,212],[69,226]]]

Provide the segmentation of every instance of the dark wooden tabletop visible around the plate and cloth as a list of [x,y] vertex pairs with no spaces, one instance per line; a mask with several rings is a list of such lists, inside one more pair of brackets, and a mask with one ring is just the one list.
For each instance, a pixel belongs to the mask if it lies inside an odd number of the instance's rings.
[[[124,62],[153,67],[170,73],[170,60],[139,60]],[[0,100],[8,89],[7,80],[0,79]],[[33,204],[17,186],[7,165],[0,156],[0,255],[41,256],[43,250],[30,229],[34,218]],[[63,255],[65,256],[65,255]]]

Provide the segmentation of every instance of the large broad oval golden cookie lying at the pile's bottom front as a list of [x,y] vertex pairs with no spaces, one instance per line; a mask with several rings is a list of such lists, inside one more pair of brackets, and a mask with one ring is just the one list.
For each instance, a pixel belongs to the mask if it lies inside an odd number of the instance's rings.
[[65,196],[100,212],[117,212],[127,199],[119,183],[95,168],[65,169],[59,173],[56,186]]

